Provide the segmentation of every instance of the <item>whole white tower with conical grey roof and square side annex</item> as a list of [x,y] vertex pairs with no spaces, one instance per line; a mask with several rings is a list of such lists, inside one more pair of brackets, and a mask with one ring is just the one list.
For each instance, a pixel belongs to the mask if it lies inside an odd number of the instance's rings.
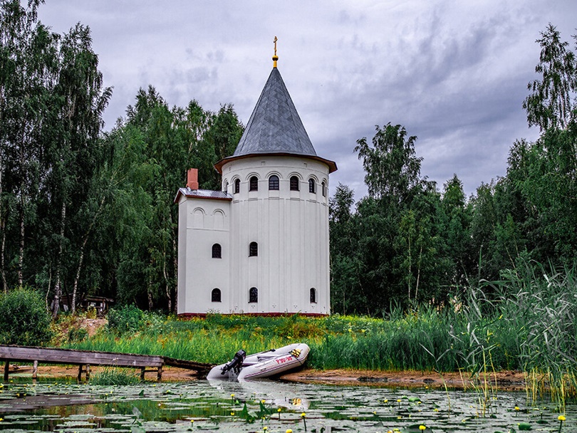
[[236,152],[215,165],[222,192],[189,172],[179,204],[178,313],[330,313],[328,175],[276,68]]

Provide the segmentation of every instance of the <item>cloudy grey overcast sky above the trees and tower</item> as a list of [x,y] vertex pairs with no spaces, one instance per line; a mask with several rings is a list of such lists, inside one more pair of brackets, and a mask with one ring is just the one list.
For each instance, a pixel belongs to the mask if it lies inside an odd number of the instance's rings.
[[575,0],[46,0],[53,31],[90,26],[113,97],[106,129],[139,88],[169,105],[232,103],[246,125],[272,68],[279,71],[318,155],[341,182],[366,194],[353,152],[375,125],[416,135],[421,174],[443,184],[457,174],[467,194],[506,173],[511,144],[534,140],[521,107],[547,24],[571,49]]

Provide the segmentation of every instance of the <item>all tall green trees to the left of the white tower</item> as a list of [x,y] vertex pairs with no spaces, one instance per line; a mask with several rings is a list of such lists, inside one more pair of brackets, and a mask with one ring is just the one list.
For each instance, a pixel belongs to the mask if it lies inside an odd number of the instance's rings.
[[0,9],[0,285],[176,310],[177,207],[186,170],[218,189],[213,165],[243,126],[232,105],[170,108],[140,89],[103,132],[112,89],[103,85],[90,29],[53,33],[41,0]]

